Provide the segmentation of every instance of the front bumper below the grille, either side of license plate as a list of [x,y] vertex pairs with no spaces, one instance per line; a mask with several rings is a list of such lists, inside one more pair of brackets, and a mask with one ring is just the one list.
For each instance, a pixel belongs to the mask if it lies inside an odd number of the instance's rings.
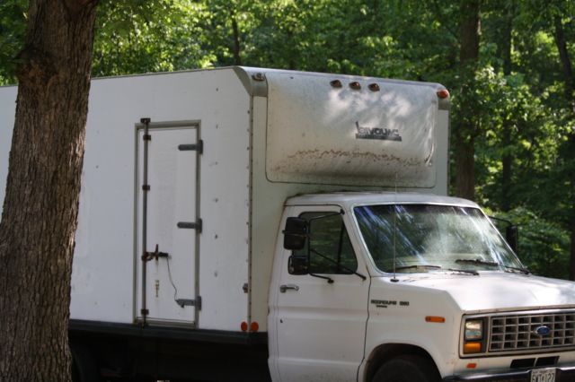
[[[548,369],[548,368],[543,368]],[[575,382],[575,366],[556,367],[555,382]],[[469,375],[450,376],[443,378],[444,382],[473,381],[473,382],[529,382],[532,369],[500,370],[478,372]]]

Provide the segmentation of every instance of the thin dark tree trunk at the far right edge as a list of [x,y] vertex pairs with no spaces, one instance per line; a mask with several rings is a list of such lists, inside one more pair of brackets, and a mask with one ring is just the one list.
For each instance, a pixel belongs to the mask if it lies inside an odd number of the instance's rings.
[[[555,15],[553,18],[554,31],[555,31],[555,45],[559,50],[559,57],[563,68],[563,76],[565,81],[565,100],[571,109],[571,114],[575,117],[575,76],[573,75],[573,66],[571,65],[571,56],[567,49],[567,40],[565,39],[565,32],[561,16]],[[571,183],[571,212],[569,221],[567,223],[571,232],[571,262],[569,268],[569,277],[575,280],[575,131],[571,131],[567,140],[567,158],[568,162],[567,177]]]

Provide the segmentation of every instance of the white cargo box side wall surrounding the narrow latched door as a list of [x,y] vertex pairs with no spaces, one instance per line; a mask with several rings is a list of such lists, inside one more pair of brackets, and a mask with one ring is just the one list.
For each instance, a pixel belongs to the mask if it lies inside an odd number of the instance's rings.
[[[198,195],[203,230],[199,272],[189,270],[190,278],[199,279],[194,280],[196,291],[181,287],[177,297],[201,296],[196,326],[237,330],[247,317],[242,285],[248,272],[248,111],[249,96],[232,70],[93,82],[76,233],[72,318],[131,323],[141,315],[136,300],[137,277],[141,275],[135,272],[141,262],[141,254],[135,251],[140,203],[135,190],[135,126],[141,117],[149,117],[152,123],[164,126],[185,121],[200,126],[205,143]],[[194,235],[194,230],[190,234]],[[162,250],[162,243],[157,244]],[[165,262],[160,258],[158,265],[165,267]],[[173,299],[170,282],[147,282],[157,285],[158,298],[169,295]],[[150,294],[148,299],[156,298],[154,292]]]

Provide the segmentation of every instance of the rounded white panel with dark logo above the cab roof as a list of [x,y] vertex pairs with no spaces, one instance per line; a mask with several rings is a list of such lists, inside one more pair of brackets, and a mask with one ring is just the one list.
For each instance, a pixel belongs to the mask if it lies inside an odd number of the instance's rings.
[[329,76],[277,72],[267,78],[271,181],[436,185],[435,85],[333,76],[342,85],[333,87]]

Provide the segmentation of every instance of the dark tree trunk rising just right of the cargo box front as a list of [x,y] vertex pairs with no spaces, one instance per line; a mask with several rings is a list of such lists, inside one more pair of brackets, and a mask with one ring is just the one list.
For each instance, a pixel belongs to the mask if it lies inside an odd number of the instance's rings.
[[473,199],[475,188],[476,118],[473,102],[473,77],[479,56],[480,1],[462,0],[460,5],[459,51],[460,75],[463,80],[460,97],[459,125],[454,131],[456,152],[456,195]]

